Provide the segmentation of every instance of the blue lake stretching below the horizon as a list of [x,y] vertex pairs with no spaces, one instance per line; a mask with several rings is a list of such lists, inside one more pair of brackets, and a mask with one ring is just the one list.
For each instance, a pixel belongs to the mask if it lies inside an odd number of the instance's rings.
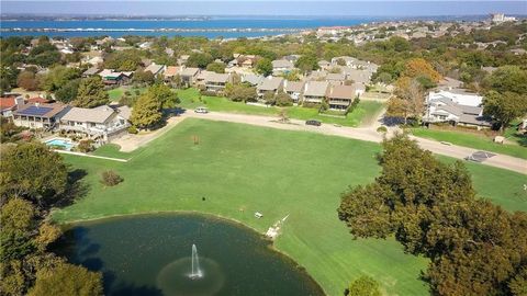
[[[59,30],[82,30],[68,32],[1,32],[2,36],[13,35],[47,35],[47,36],[101,36],[121,37],[124,35],[149,35],[149,36],[205,36],[214,37],[257,37],[267,35],[278,35],[290,33],[290,29],[316,29],[319,26],[335,25],[356,25],[371,22],[372,19],[211,19],[203,21],[146,21],[146,20],[125,20],[125,21],[2,21],[2,30],[10,29],[59,29]],[[141,31],[141,30],[181,30],[180,32],[160,32],[160,31]],[[250,30],[268,30],[251,32]],[[86,31],[94,30],[94,31]],[[97,31],[101,30],[101,31]],[[113,30],[113,31],[112,31]],[[136,30],[136,31],[115,31],[115,30]],[[204,31],[199,31],[204,30]],[[243,30],[243,31],[235,31]],[[191,31],[191,32],[189,32]]]

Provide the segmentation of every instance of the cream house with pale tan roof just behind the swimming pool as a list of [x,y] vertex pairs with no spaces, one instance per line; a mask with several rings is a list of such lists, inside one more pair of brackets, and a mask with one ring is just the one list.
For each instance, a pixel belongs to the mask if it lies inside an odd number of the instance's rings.
[[[124,115],[130,117],[128,113]],[[93,109],[72,107],[61,116],[58,128],[106,143],[130,126],[125,116],[106,105]]]

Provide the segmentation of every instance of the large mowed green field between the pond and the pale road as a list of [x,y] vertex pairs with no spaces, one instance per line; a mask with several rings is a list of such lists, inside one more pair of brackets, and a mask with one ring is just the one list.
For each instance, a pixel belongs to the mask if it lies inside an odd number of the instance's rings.
[[[56,220],[195,210],[265,232],[290,215],[274,247],[304,266],[327,295],[343,295],[362,274],[377,278],[388,295],[428,294],[419,280],[426,259],[405,254],[393,239],[354,240],[337,218],[340,193],[373,181],[380,172],[377,144],[187,118],[132,153],[105,149],[100,153],[132,159],[121,163],[65,156],[74,169],[87,171],[89,192],[56,210]],[[109,169],[125,181],[103,187],[100,174]],[[484,196],[507,209],[527,210],[525,175],[475,163],[469,163],[469,170]],[[255,218],[255,212],[264,217]]]

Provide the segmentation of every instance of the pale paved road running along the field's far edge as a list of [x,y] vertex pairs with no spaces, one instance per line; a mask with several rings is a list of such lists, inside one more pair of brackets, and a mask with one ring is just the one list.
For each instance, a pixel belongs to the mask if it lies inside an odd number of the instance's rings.
[[[210,119],[210,121],[221,121],[221,122],[233,122],[233,123],[243,123],[243,124],[250,124],[250,125],[258,125],[258,126],[266,126],[272,128],[280,128],[280,129],[288,129],[288,130],[304,130],[304,132],[313,132],[319,133],[325,135],[333,135],[339,137],[347,137],[354,138],[359,140],[367,140],[367,141],[374,141],[380,143],[382,141],[382,135],[377,133],[374,126],[373,127],[344,127],[344,126],[334,126],[330,124],[323,124],[322,126],[307,126],[303,121],[298,119],[290,119],[289,124],[278,122],[278,117],[271,116],[257,116],[257,115],[245,115],[245,114],[232,114],[232,113],[220,113],[220,112],[211,112],[208,114],[197,114],[193,112],[188,112],[181,117],[198,117],[202,119]],[[392,135],[396,128],[389,128],[389,136]],[[415,139],[417,144],[426,150],[430,150],[437,155],[444,155],[457,159],[464,159],[467,156],[472,155],[473,152],[478,151],[476,149],[456,146],[456,145],[444,145],[439,141],[424,139],[411,136],[411,138]],[[514,158],[504,155],[496,155],[483,162],[486,166],[492,166],[496,168],[502,168],[519,173],[527,174],[527,160]]]

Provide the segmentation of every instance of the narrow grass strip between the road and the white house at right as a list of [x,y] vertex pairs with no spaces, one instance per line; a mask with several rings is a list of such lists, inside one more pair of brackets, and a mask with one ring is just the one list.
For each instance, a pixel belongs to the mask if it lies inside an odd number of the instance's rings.
[[484,136],[478,136],[461,132],[437,130],[421,127],[412,128],[411,132],[417,137],[429,138],[439,141],[448,141],[453,145],[527,159],[527,147],[512,144],[496,144],[493,143],[491,138]]

